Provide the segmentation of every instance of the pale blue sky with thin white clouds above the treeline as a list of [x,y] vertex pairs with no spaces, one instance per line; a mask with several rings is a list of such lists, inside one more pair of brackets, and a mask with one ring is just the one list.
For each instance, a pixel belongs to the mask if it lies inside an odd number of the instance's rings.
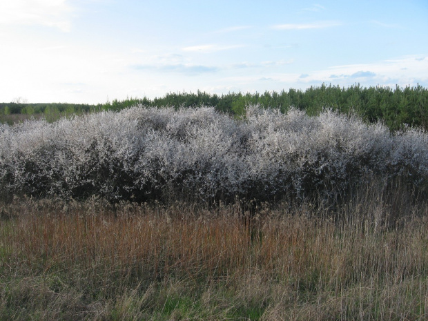
[[0,0],[0,102],[428,87],[428,1]]

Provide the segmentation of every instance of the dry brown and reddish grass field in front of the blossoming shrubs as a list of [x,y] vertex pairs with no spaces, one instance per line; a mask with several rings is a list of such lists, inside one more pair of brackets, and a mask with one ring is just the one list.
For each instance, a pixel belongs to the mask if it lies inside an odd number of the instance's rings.
[[17,199],[1,209],[0,320],[425,320],[428,206],[397,197],[251,218]]

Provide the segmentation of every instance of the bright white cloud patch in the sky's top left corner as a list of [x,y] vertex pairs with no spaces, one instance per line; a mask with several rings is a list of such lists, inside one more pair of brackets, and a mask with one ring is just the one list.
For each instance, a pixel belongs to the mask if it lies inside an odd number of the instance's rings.
[[0,1],[0,24],[41,25],[70,30],[72,8],[66,0]]

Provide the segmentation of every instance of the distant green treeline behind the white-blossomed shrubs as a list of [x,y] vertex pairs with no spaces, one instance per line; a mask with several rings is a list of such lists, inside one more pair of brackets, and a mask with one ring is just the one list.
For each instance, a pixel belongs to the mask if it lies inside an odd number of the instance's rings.
[[[391,130],[400,130],[404,126],[417,126],[428,129],[428,88],[422,86],[396,88],[369,87],[359,84],[340,88],[340,86],[311,87],[307,90],[282,90],[264,93],[228,93],[211,95],[201,91],[197,93],[168,93],[155,99],[128,98],[122,101],[114,99],[105,104],[21,104],[1,103],[0,120],[9,122],[17,118],[8,115],[24,114],[47,115],[49,121],[71,113],[89,113],[101,110],[119,111],[141,104],[150,107],[174,106],[197,107],[212,106],[215,110],[231,115],[244,115],[246,105],[260,105],[262,108],[278,108],[282,113],[290,106],[304,110],[308,115],[319,115],[324,108],[338,110],[340,113],[353,112],[364,121],[376,123],[384,121]],[[19,120],[19,119],[18,119]]]

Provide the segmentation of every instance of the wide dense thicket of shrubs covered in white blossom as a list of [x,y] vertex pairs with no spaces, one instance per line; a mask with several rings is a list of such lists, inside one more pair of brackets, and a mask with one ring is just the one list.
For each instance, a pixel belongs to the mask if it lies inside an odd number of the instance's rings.
[[136,106],[0,127],[3,197],[269,201],[346,195],[373,177],[425,188],[427,133],[257,106],[244,120],[214,108]]

